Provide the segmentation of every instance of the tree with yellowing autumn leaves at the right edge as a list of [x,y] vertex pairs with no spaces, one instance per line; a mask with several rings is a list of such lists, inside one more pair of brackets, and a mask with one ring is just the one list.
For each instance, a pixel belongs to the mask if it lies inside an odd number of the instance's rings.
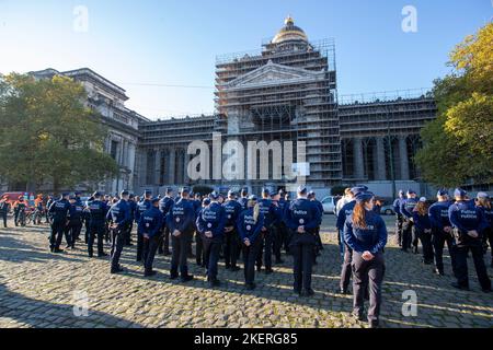
[[438,115],[421,132],[416,163],[438,186],[493,183],[493,23],[466,37],[449,65],[435,81]]

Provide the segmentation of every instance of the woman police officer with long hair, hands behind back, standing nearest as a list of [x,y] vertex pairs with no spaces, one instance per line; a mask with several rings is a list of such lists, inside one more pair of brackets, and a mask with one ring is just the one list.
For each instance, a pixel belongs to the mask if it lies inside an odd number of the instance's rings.
[[374,211],[371,192],[356,195],[353,214],[344,224],[344,242],[353,249],[353,315],[363,320],[365,290],[369,289],[368,324],[379,325],[381,284],[385,275],[383,248],[387,228]]

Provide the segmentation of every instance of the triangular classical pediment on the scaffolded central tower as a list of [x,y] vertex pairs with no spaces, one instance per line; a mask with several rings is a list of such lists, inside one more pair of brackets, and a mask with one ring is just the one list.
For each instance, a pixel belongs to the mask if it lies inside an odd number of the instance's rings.
[[301,68],[276,65],[268,61],[267,65],[230,81],[223,88],[227,90],[262,88],[271,84],[280,85],[285,83],[288,84],[293,82],[312,81],[318,79],[324,79],[324,72],[314,72]]

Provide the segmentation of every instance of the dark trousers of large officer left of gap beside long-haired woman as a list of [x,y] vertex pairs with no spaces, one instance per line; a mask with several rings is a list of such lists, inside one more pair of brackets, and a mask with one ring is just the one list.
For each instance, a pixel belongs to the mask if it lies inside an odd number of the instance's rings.
[[293,233],[289,252],[293,254],[295,276],[294,290],[311,289],[311,271],[313,267],[316,237],[313,233]]

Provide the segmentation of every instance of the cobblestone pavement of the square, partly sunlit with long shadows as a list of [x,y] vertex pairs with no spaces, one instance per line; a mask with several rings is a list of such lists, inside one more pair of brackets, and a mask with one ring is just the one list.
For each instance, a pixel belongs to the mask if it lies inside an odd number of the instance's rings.
[[[47,235],[46,225],[0,229],[0,327],[366,327],[351,317],[352,296],[335,293],[340,258],[331,231],[323,234],[325,249],[314,267],[317,294],[311,299],[291,293],[290,257],[275,273],[256,275],[253,292],[244,289],[242,271],[227,271],[221,264],[225,283],[210,290],[194,260],[190,267],[197,279],[187,284],[168,280],[170,258],[163,256],[157,257],[158,275],[146,279],[135,262],[135,247],[126,247],[122,264],[127,272],[112,276],[108,259],[89,259],[81,244],[50,254]],[[383,327],[493,326],[493,294],[480,291],[472,261],[472,291],[462,292],[450,288],[448,256],[447,276],[438,277],[420,256],[392,244],[386,250]],[[402,314],[406,290],[417,295],[416,316]],[[84,295],[88,316],[76,316],[83,311],[77,300]]]

